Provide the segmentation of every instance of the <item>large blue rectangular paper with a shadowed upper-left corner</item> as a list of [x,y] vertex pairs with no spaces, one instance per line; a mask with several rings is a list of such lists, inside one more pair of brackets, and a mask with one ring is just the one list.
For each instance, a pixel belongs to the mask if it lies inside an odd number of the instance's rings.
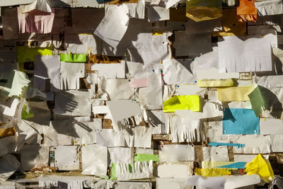
[[251,109],[225,108],[223,134],[259,134],[259,122]]

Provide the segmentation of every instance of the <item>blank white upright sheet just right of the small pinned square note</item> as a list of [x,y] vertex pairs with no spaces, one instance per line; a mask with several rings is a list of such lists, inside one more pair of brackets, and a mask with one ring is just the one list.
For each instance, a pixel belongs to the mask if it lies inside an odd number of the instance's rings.
[[86,145],[81,149],[82,174],[105,176],[108,166],[106,147],[97,144]]

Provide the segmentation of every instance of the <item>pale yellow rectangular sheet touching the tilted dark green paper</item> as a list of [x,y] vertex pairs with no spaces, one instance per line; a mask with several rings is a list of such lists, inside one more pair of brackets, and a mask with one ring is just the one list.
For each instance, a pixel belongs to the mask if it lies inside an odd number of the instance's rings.
[[221,102],[250,101],[248,94],[253,92],[253,86],[217,88],[217,91]]

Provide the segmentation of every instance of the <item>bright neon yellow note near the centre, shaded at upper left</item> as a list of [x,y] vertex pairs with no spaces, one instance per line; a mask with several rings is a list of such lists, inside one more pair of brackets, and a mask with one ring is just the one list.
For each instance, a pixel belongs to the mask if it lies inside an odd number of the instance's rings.
[[163,112],[174,113],[175,110],[200,111],[200,97],[197,95],[173,96],[163,103]]

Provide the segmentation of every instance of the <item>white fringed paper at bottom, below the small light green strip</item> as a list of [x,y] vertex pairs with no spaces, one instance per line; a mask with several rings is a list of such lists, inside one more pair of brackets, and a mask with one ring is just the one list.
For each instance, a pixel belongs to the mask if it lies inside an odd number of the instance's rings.
[[[115,168],[111,178],[117,178],[118,181],[127,181],[129,179],[150,178],[153,173],[153,161],[138,161],[131,164],[114,164]],[[132,168],[132,171],[130,170]]]

